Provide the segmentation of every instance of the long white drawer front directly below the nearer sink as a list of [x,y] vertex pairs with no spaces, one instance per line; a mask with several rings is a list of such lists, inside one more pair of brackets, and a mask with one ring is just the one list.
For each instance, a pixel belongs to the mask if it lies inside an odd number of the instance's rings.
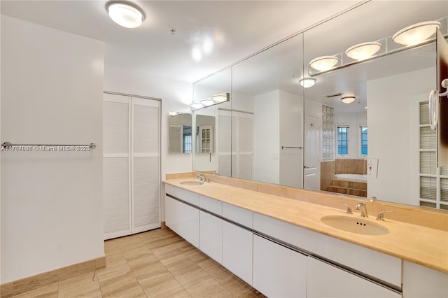
[[401,288],[402,261],[397,257],[258,213],[253,213],[253,229]]

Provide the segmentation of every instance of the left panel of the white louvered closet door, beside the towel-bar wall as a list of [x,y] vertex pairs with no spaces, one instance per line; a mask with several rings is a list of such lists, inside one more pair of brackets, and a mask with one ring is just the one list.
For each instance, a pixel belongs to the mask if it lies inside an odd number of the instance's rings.
[[104,94],[104,239],[131,234],[130,97]]

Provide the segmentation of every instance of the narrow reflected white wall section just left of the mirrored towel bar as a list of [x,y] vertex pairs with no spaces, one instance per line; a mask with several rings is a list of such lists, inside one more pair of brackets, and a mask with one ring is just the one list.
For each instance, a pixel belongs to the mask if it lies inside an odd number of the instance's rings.
[[279,184],[279,90],[257,95],[253,115],[253,180]]

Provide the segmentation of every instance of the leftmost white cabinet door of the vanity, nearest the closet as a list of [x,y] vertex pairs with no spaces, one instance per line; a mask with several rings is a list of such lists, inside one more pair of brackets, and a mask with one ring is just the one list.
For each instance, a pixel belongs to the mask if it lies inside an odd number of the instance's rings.
[[199,209],[165,196],[165,223],[176,234],[200,247]]

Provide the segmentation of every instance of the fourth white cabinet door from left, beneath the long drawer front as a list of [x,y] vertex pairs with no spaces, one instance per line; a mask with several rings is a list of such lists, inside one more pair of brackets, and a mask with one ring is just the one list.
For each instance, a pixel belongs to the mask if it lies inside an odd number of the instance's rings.
[[254,235],[253,288],[267,297],[306,297],[307,256]]

